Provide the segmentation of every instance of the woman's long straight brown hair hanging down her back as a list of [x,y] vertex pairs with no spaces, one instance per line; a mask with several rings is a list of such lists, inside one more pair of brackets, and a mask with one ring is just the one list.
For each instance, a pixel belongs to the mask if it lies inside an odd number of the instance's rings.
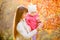
[[19,21],[22,19],[23,14],[28,12],[28,9],[25,7],[19,7],[16,11],[16,15],[15,15],[15,19],[14,19],[14,40],[16,40],[16,36],[18,34],[16,28],[17,28],[17,24],[19,23]]

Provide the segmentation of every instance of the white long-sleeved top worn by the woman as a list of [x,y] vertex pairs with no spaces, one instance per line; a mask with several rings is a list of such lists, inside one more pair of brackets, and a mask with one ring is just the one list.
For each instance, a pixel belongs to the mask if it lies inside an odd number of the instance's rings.
[[17,31],[25,38],[31,38],[37,33],[37,30],[31,31],[25,20],[22,20],[17,25]]

